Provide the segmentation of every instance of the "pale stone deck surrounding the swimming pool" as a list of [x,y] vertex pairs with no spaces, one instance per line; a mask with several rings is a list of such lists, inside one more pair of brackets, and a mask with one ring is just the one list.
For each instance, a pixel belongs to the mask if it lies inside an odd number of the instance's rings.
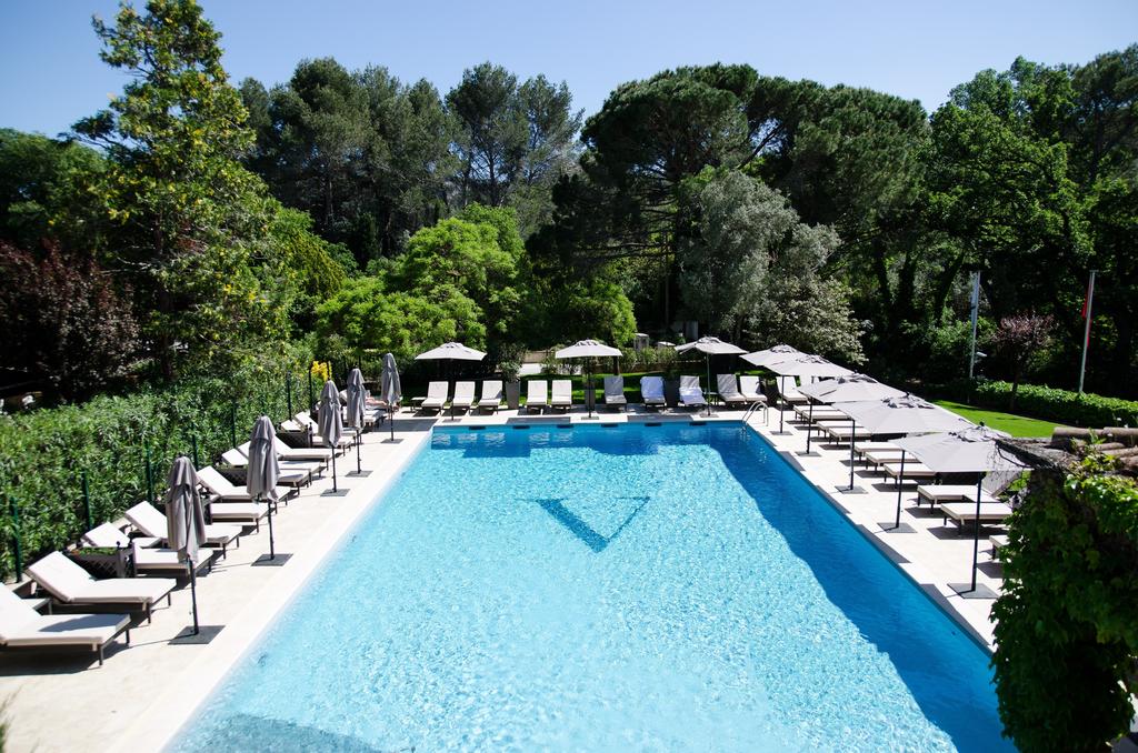
[[[603,413],[603,421],[739,421],[741,411],[719,409],[707,417],[687,411],[645,413],[632,406],[625,413]],[[881,477],[859,473],[857,483],[865,494],[843,495],[838,487],[849,482],[849,450],[823,445],[818,455],[802,457],[806,433],[790,422],[789,433],[776,433],[778,413],[769,422],[761,414],[749,423],[783,457],[798,466],[842,513],[874,544],[882,548],[916,584],[933,596],[964,629],[990,646],[991,599],[964,599],[948,584],[966,582],[971,574],[972,537],[958,535],[955,527],[941,524],[941,518],[916,510],[915,494],[904,495],[902,523],[913,532],[891,533],[881,523],[894,516],[897,495],[892,483]],[[395,422],[398,442],[385,441],[386,431],[365,435],[362,465],[371,474],[346,478],[355,470],[352,453],[338,461],[339,486],[348,489],[343,497],[324,497],[330,478],[320,479],[302,490],[300,496],[281,506],[274,518],[277,551],[291,558],[279,568],[255,568],[251,563],[267,552],[267,529],[242,537],[240,548],[230,549],[214,571],[198,580],[198,607],[203,626],[224,626],[207,645],[171,645],[170,640],[190,623],[189,588],[174,593],[173,605],[157,609],[151,624],[131,630],[131,646],[121,640],[108,646],[102,667],[89,654],[0,652],[0,703],[7,703],[6,742],[13,751],[138,751],[157,750],[170,742],[205,698],[240,659],[280,610],[289,603],[336,548],[344,535],[370,507],[376,496],[398,478],[406,463],[424,445],[435,425],[496,425],[510,422],[587,422],[583,409],[567,419],[517,415],[503,411],[496,415],[471,415],[451,420],[448,415],[415,416],[399,414]],[[998,566],[991,562],[989,545],[980,544],[980,582],[998,590]],[[904,615],[898,615],[904,620]],[[914,640],[921,639],[913,636]]]

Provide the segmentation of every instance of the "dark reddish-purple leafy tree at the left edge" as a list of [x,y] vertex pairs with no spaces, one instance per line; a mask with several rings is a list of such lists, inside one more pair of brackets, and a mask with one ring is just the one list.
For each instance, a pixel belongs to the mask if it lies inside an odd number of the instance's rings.
[[89,255],[66,256],[49,245],[36,257],[0,241],[0,353],[9,376],[77,399],[126,373],[138,323]]

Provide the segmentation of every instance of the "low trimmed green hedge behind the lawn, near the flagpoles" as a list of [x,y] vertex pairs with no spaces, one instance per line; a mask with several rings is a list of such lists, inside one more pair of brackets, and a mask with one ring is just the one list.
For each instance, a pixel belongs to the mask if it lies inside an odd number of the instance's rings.
[[[1011,399],[1011,382],[980,382],[971,402],[980,407],[1007,411]],[[1138,403],[1133,400],[1086,392],[1079,395],[1036,384],[1020,384],[1015,412],[1072,427],[1138,427]]]

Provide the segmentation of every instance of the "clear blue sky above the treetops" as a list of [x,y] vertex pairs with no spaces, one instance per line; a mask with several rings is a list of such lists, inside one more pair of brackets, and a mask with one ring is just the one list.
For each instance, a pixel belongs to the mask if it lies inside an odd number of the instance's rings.
[[[586,115],[619,83],[679,65],[871,86],[934,109],[1017,55],[1085,63],[1138,41],[1136,0],[640,0],[542,3],[201,0],[233,82],[286,81],[302,58],[387,66],[443,92],[484,60],[564,80]],[[124,78],[98,59],[90,18],[114,0],[0,0],[0,126],[53,135],[106,105]]]

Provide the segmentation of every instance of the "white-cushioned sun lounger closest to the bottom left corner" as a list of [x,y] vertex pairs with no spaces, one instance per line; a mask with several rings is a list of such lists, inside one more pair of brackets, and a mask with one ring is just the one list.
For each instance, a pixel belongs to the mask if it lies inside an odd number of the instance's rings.
[[129,614],[40,614],[7,587],[0,588],[0,644],[6,647],[86,646],[99,654],[119,634],[131,643]]

